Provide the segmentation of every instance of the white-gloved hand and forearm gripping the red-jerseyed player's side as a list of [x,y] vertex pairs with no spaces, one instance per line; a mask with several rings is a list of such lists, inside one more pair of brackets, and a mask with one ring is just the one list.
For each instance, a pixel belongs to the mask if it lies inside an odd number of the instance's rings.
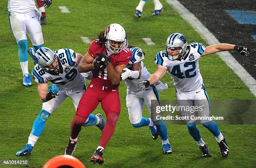
[[121,78],[125,80],[126,78],[130,77],[133,79],[140,79],[141,78],[141,62],[133,64],[133,70],[129,70],[128,68],[124,68]]

